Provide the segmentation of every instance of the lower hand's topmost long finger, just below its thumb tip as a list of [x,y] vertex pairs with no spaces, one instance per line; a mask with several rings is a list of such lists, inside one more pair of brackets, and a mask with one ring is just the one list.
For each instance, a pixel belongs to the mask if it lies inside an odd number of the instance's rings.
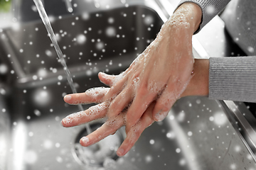
[[88,89],[85,93],[80,94],[68,94],[64,96],[64,101],[69,104],[89,104],[89,103],[102,103],[105,94],[110,88],[97,87]]

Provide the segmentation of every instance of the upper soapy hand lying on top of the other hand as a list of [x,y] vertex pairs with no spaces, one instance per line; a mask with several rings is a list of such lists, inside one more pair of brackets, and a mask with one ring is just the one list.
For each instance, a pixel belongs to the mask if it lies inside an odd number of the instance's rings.
[[[166,117],[191,79],[192,35],[200,23],[194,22],[193,9],[188,10],[193,6],[197,5],[185,4],[178,8],[162,26],[156,40],[118,76],[104,98],[111,101],[107,111],[109,118],[128,108],[126,125],[132,128],[153,101],[156,102],[152,111],[154,120]],[[201,21],[198,16],[195,18]],[[100,76],[107,77],[106,74]]]

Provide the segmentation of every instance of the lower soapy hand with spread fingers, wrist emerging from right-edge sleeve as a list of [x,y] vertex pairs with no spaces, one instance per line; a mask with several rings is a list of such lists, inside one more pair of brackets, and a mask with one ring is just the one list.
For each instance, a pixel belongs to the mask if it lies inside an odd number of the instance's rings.
[[[195,60],[194,64],[194,76],[188,84],[186,90],[181,94],[181,96],[191,96],[191,95],[200,95],[206,96],[208,95],[208,70],[209,70],[209,60]],[[114,76],[104,76],[100,74],[100,80],[112,86],[114,82],[118,79],[118,77]],[[92,120],[97,120],[99,118],[103,118],[107,115],[107,107],[109,104],[106,104],[103,101],[105,94],[110,90],[110,88],[95,88],[89,89],[85,93],[82,94],[70,94],[65,96],[64,100],[70,104],[85,104],[85,103],[100,103],[97,106],[92,106],[87,109],[87,111],[82,111],[80,113],[75,113],[72,115],[68,115],[67,118],[62,120],[62,124],[64,127],[73,127],[76,125],[81,125],[83,123],[88,123]],[[123,144],[117,150],[117,155],[122,157],[126,154],[129,149],[133,147],[135,142],[139,139],[139,136],[142,132],[149,127],[154,120],[151,116],[151,113],[154,109],[155,102],[151,103],[149,108],[147,108],[146,112],[142,115],[139,122],[132,128],[126,129],[127,138],[124,140]],[[83,137],[80,140],[82,146],[90,146],[95,144],[96,142],[102,140],[104,137],[113,134],[116,130],[125,125],[125,112],[121,113],[116,118],[111,118],[107,120],[107,122],[102,125],[101,128],[92,132],[89,136]],[[110,122],[114,123],[115,126],[112,127]],[[113,125],[113,124],[112,124]]]

